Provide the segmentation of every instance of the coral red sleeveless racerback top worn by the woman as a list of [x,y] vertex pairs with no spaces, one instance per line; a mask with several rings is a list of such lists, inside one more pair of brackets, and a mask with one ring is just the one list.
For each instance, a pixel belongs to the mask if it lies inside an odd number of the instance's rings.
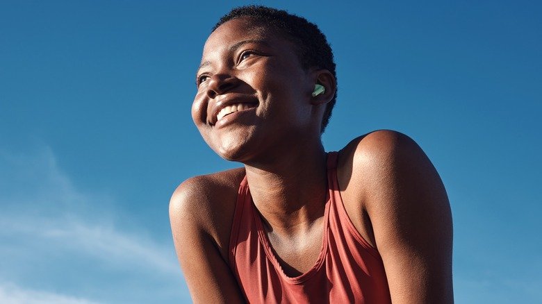
[[337,153],[329,153],[329,192],[320,255],[309,271],[295,278],[286,276],[274,255],[247,177],[241,182],[231,228],[229,266],[249,303],[391,303],[381,257],[346,213],[336,162]]

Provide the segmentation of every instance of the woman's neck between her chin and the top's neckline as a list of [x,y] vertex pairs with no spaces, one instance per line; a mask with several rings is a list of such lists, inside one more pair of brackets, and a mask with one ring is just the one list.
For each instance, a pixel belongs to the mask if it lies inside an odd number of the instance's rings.
[[288,149],[272,162],[245,164],[252,199],[268,230],[308,231],[322,217],[327,197],[326,154],[321,142]]

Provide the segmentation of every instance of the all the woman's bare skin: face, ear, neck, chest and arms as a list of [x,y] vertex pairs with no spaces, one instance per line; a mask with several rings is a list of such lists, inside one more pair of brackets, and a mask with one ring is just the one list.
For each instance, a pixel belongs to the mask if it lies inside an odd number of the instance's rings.
[[[320,125],[336,83],[325,69],[304,69],[294,50],[249,19],[222,24],[205,44],[192,119],[211,149],[244,167],[190,178],[172,196],[174,244],[195,303],[244,301],[227,260],[245,174],[286,274],[318,257],[327,191]],[[311,96],[315,83],[324,94]],[[216,121],[231,102],[250,108]],[[375,131],[340,150],[337,174],[347,214],[384,261],[393,303],[453,303],[450,204],[420,147]]]

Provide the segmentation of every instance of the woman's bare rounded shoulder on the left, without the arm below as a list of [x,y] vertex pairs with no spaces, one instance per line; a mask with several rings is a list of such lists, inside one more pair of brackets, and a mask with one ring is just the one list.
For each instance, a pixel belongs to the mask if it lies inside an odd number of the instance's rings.
[[[231,169],[183,181],[170,199],[173,230],[183,227],[209,235],[226,252],[231,221],[245,169]],[[222,250],[224,249],[224,250]]]

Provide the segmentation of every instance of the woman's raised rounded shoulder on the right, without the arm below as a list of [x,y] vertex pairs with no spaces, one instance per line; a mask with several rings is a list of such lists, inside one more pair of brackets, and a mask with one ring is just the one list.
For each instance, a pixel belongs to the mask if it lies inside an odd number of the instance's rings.
[[340,151],[338,172],[342,188],[367,210],[413,203],[407,198],[416,197],[434,204],[442,201],[442,207],[449,208],[441,178],[427,155],[410,137],[393,130],[352,140]]

